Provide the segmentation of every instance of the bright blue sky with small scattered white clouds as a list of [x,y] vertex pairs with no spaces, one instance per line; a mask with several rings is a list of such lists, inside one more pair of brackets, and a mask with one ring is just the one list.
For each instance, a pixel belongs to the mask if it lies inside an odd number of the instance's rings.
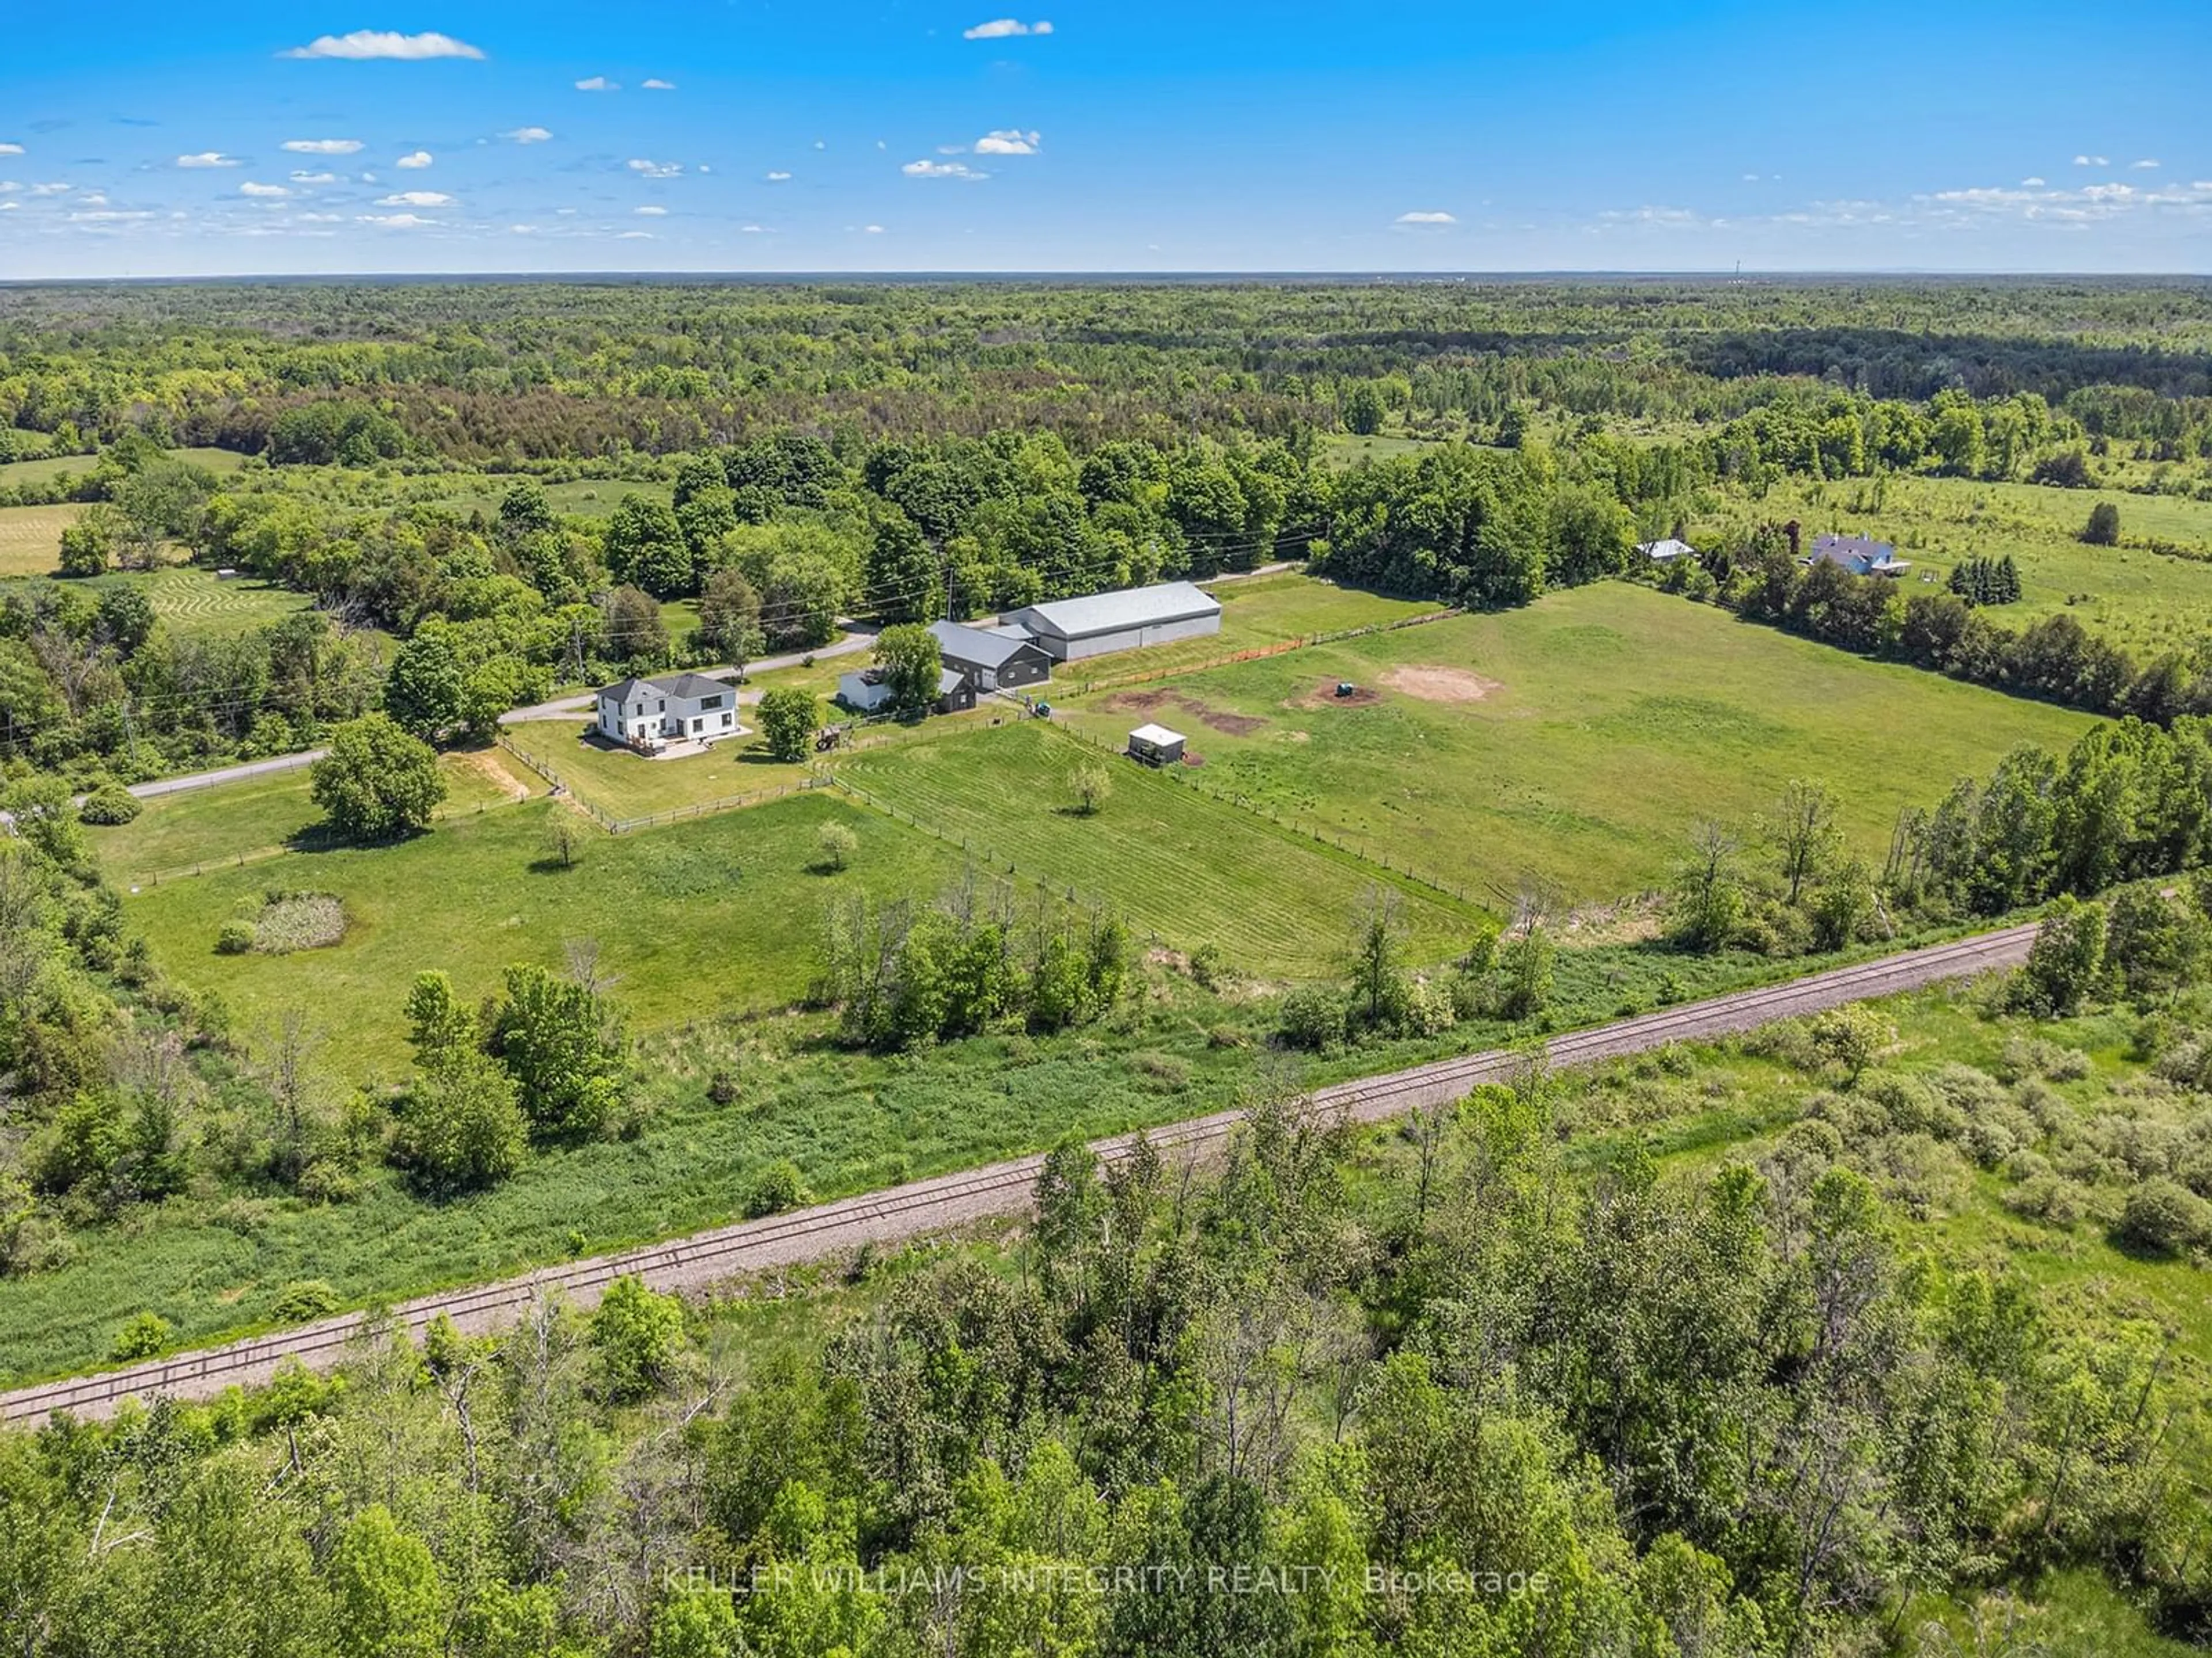
[[44,0],[0,279],[2212,270],[2212,4]]

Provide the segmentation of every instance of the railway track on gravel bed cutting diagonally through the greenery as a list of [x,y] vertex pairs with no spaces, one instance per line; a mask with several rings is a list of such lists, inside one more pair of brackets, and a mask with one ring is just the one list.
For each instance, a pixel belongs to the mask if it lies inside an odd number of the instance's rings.
[[[1816,1012],[1863,997],[2017,966],[2026,959],[2028,944],[2033,942],[2033,922],[2008,926],[1955,944],[1936,944],[1924,951],[1863,962],[1860,966],[1814,973],[1805,979],[1767,986],[1765,990],[1739,990],[1736,995],[1692,1001],[1661,1012],[1646,1012],[1637,1019],[1597,1026],[1595,1030],[1553,1037],[1546,1050],[1555,1066],[1582,1066],[1597,1059],[1644,1052],[1668,1041],[1721,1037],[1794,1012]],[[1316,1090],[1314,1103],[1321,1110],[1345,1112],[1360,1123],[1378,1123],[1416,1105],[1440,1105],[1460,1099],[1475,1083],[1509,1077],[1513,1066],[1513,1052],[1493,1048],[1462,1059],[1440,1059],[1385,1077],[1323,1088]],[[1237,1112],[1217,1112],[1188,1123],[1155,1127],[1148,1134],[1161,1152],[1192,1158],[1219,1145],[1234,1130],[1237,1121]],[[1133,1143],[1133,1134],[1121,1134],[1110,1141],[1097,1141],[1095,1150],[1102,1158],[1115,1158],[1124,1156]],[[624,1273],[637,1273],[655,1289],[703,1289],[734,1273],[787,1267],[841,1249],[854,1249],[863,1242],[900,1242],[971,1220],[1018,1216],[1029,1209],[1042,1161],[1042,1156],[1011,1158],[964,1174],[940,1174],[887,1192],[841,1198],[812,1209],[794,1209],[768,1220],[745,1220],[690,1238],[626,1249],[617,1256],[571,1260],[498,1284],[425,1295],[396,1307],[394,1318],[407,1331],[418,1333],[445,1313],[462,1331],[482,1333],[511,1322],[520,1307],[551,1289],[560,1289],[580,1307],[591,1307],[599,1300],[599,1291]],[[361,1315],[343,1313],[319,1324],[301,1324],[274,1335],[257,1335],[199,1353],[179,1353],[177,1357],[135,1364],[126,1371],[18,1388],[0,1395],[0,1421],[29,1421],[51,1410],[106,1417],[131,1395],[153,1397],[168,1393],[179,1399],[204,1399],[230,1384],[259,1386],[274,1375],[276,1364],[285,1357],[299,1357],[303,1364],[316,1368],[336,1364],[358,1329]]]

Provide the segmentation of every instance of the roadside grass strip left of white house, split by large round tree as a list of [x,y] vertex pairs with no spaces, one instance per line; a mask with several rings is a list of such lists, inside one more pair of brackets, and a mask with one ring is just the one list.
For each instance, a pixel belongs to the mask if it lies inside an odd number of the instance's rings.
[[[445,805],[438,807],[442,818],[509,805],[520,787],[544,791],[526,767],[498,754],[445,754],[438,769],[445,774]],[[301,767],[246,783],[157,794],[133,822],[106,829],[86,825],[84,836],[111,882],[142,886],[155,875],[184,875],[199,867],[283,851],[323,818],[307,789],[307,767]]]

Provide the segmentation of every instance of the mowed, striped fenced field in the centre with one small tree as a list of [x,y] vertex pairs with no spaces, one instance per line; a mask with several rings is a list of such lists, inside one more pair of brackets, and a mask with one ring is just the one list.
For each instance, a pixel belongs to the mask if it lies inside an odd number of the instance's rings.
[[[1093,816],[1077,814],[1068,789],[1079,765],[1104,765],[1113,780]],[[1482,926],[1471,904],[1035,721],[863,752],[834,776],[995,875],[1106,904],[1170,948],[1212,944],[1245,973],[1336,973],[1380,889],[1396,893],[1418,962],[1464,951]]]

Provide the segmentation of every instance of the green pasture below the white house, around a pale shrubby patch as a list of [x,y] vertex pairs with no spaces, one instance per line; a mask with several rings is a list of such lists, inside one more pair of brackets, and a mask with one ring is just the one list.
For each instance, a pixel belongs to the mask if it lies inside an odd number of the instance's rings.
[[[442,968],[471,1006],[518,962],[562,966],[566,940],[597,940],[599,970],[641,1030],[761,1012],[805,995],[832,895],[931,898],[958,851],[827,791],[637,836],[584,825],[575,867],[546,851],[533,800],[456,816],[396,847],[292,851],[161,882],[126,900],[175,979],[217,990],[239,1030],[303,1010],[332,1074],[396,1081],[407,1066],[403,1001]],[[843,873],[818,867],[816,831],[845,822],[860,847]],[[580,820],[582,822],[582,820]],[[299,955],[217,955],[223,922],[272,886],[336,893],[343,944]]]

